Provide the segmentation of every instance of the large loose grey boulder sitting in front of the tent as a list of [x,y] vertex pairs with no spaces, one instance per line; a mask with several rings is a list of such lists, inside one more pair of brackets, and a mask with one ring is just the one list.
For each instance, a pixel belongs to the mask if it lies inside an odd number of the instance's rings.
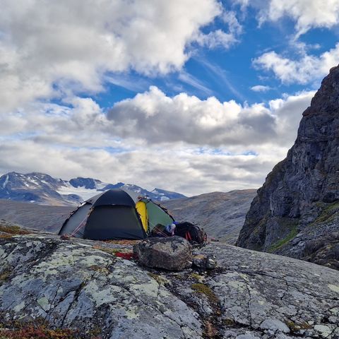
[[143,266],[184,270],[192,264],[192,246],[182,237],[148,238],[133,246]]

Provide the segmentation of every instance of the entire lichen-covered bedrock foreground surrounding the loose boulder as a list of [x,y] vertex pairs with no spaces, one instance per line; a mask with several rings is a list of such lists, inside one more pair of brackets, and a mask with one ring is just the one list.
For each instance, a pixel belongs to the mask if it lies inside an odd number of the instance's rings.
[[127,260],[131,242],[15,233],[0,227],[0,328],[41,321],[79,328],[76,338],[339,338],[331,268],[211,243],[194,254],[215,256],[217,268],[170,272]]

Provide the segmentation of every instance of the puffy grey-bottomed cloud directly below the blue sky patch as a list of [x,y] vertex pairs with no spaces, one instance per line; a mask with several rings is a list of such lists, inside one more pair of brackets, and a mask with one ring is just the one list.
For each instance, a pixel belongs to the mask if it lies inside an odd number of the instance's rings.
[[[287,105],[296,101],[301,114],[312,94],[289,97],[283,102]],[[279,138],[286,142],[283,131],[277,133],[285,117],[281,114],[283,106],[240,105],[234,100],[220,102],[215,97],[200,100],[185,93],[168,97],[152,86],[148,92],[117,102],[107,119],[121,138],[142,138],[148,143],[249,146],[272,139],[278,142]]]

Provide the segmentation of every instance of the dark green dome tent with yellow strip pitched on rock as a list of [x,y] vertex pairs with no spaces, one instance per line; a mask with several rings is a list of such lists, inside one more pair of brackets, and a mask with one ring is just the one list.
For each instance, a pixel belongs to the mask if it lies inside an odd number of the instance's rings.
[[173,222],[160,205],[148,198],[135,198],[133,193],[109,189],[93,196],[69,215],[59,235],[93,240],[145,239],[155,225]]

